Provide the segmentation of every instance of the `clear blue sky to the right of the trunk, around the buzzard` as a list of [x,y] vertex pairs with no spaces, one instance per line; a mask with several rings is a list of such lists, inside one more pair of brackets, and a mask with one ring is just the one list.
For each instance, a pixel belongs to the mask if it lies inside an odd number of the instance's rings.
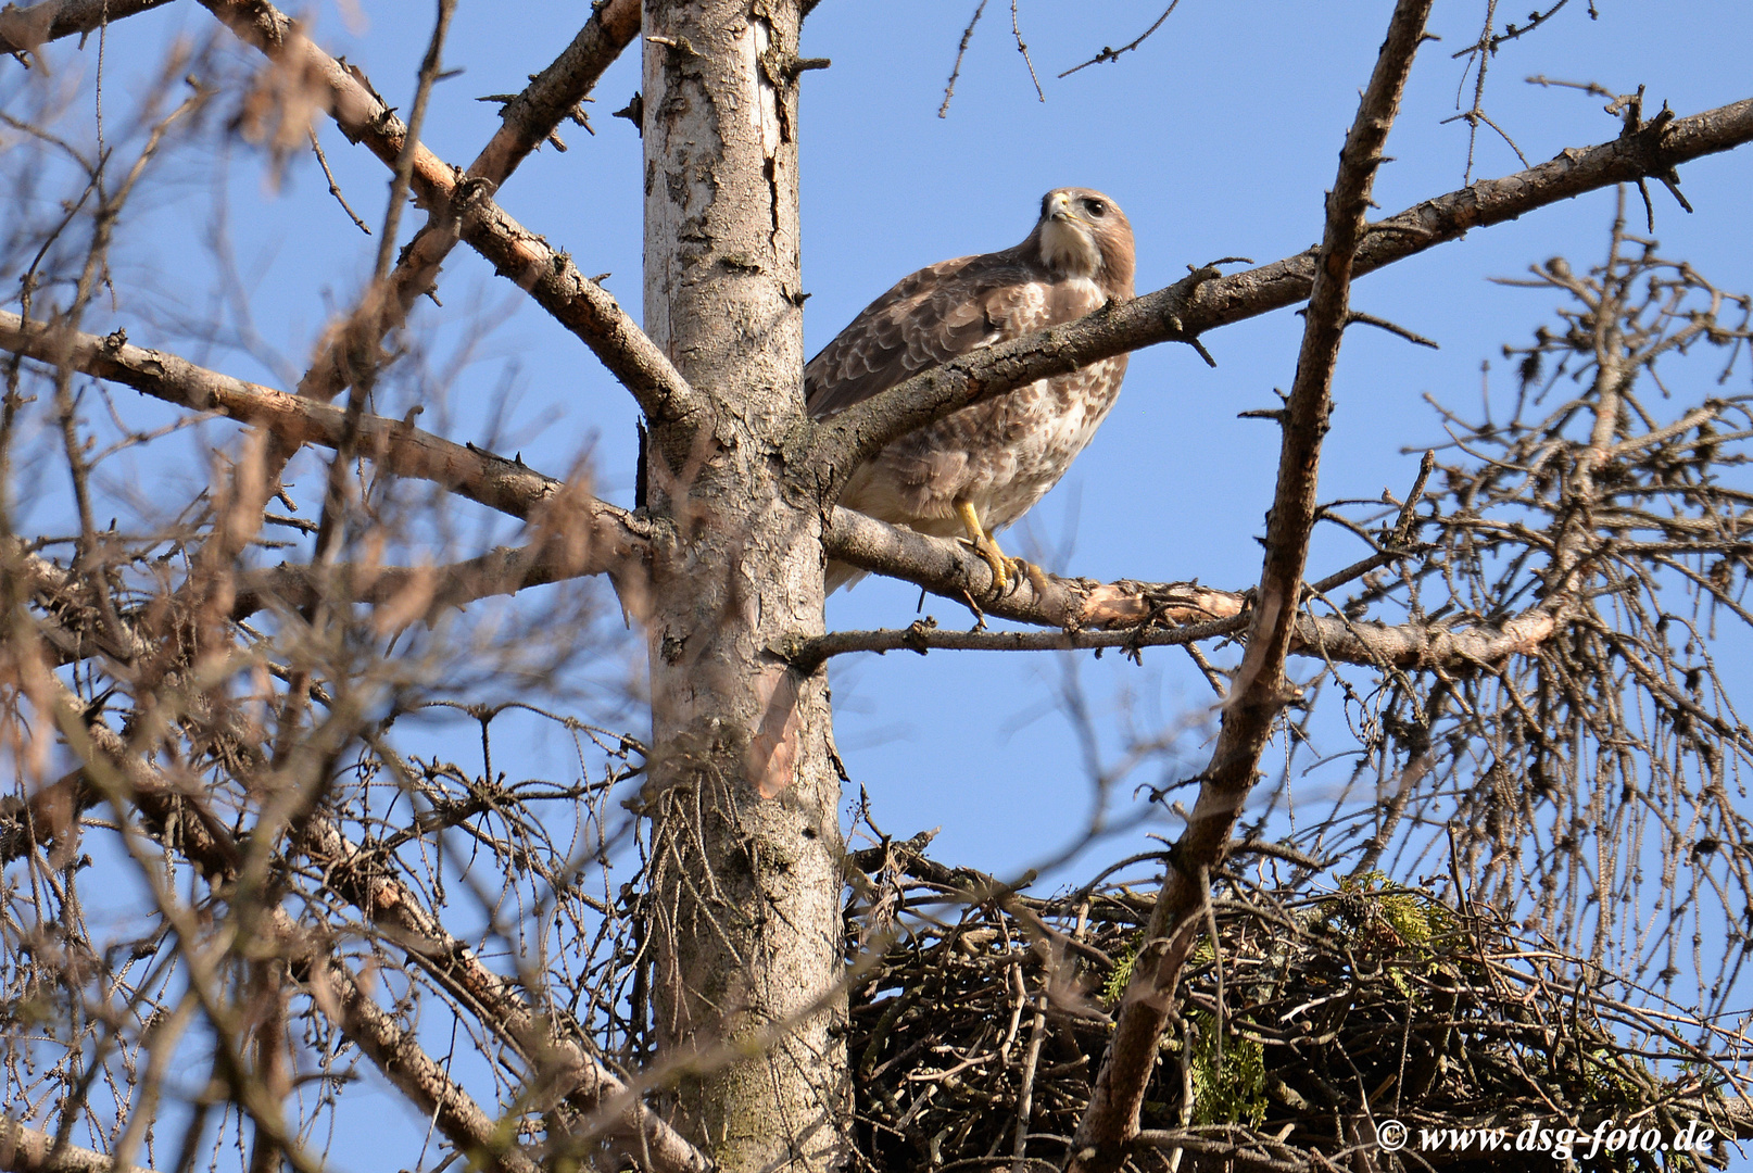
[[[1141,291],[1175,281],[1187,265],[1236,254],[1267,261],[1318,240],[1322,195],[1374,60],[1385,5],[1183,4],[1136,53],[1055,81],[1096,49],[1131,40],[1155,16],[1150,4],[1071,7],[1020,7],[1045,103],[1015,49],[1008,11],[990,5],[950,116],[938,119],[971,4],[901,5],[910,18],[905,37],[896,35],[898,19],[833,0],[822,5],[806,47],[834,58],[834,68],[810,75],[803,116],[805,277],[817,295],[808,307],[812,351],[901,272],[1018,240],[1038,193],[1057,184],[1101,188],[1127,209]],[[1462,63],[1450,53],[1476,37],[1481,9],[1437,5],[1432,28],[1443,42],[1425,46],[1388,144],[1395,163],[1376,186],[1385,212],[1462,186],[1467,130],[1441,121],[1457,112],[1462,84]],[[1646,84],[1653,107],[1667,100],[1679,112],[1742,96],[1746,74],[1734,46],[1753,32],[1744,5],[1602,5],[1600,12],[1590,21],[1586,9],[1565,11],[1492,61],[1485,109],[1530,161],[1618,130],[1599,98],[1529,86],[1530,74],[1599,81],[1613,91]],[[1471,79],[1466,93],[1471,98]],[[1480,135],[1474,175],[1520,167],[1501,139]],[[1667,251],[1693,258],[1734,289],[1753,282],[1749,181],[1753,156],[1688,168],[1695,216],[1657,191],[1657,237]],[[1550,296],[1487,279],[1553,254],[1593,261],[1611,216],[1613,193],[1597,193],[1360,281],[1359,309],[1443,349],[1369,330],[1346,337],[1322,496],[1404,493],[1416,456],[1401,449],[1441,438],[1422,396],[1476,407],[1481,361],[1497,359],[1504,342],[1525,340],[1550,314]],[[1031,517],[1048,544],[1075,533],[1066,570],[1097,579],[1197,577],[1227,587],[1253,582],[1253,538],[1262,533],[1278,438],[1269,424],[1236,414],[1271,407],[1273,389],[1288,387],[1299,326],[1283,310],[1206,337],[1217,370],[1185,347],[1132,358],[1115,414]],[[1702,368],[1692,373],[1707,377]],[[1311,572],[1357,556],[1353,540],[1322,531]],[[912,587],[868,580],[831,600],[829,621],[892,626],[912,615],[915,601]],[[940,622],[964,622],[945,601],[929,600],[926,610]],[[1146,656],[1145,665],[1141,672],[1085,658],[1083,673],[1094,694],[1131,691],[1164,719],[1208,703],[1180,652]],[[929,745],[934,766],[954,778],[873,787],[878,808],[905,803],[917,812],[892,815],[885,829],[943,824],[947,857],[990,866],[1026,861],[1062,835],[1085,796],[1078,749],[1057,714],[1024,724],[1040,714],[1057,673],[1041,659],[997,654],[836,665],[836,728],[854,775],[915,777],[908,763]],[[940,705],[941,696],[957,701]],[[980,717],[969,721],[975,712]],[[980,731],[966,733],[969,726]],[[1187,752],[1201,757],[1196,743]]]

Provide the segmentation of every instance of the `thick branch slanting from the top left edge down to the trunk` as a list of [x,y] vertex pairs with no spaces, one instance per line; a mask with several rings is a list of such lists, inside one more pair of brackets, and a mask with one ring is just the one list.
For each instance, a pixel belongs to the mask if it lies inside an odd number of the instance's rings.
[[[394,167],[407,126],[347,67],[302,37],[295,23],[265,0],[202,0],[242,40],[268,58],[298,67],[330,91],[330,112],[354,142],[363,142]],[[603,286],[586,279],[571,258],[493,203],[491,184],[477,182],[424,146],[414,151],[414,193],[431,207],[466,196],[463,238],[493,263],[494,272],[528,291],[542,309],[577,335],[608,366],[652,419],[685,419],[701,410],[699,396],[668,356],[633,323]]]

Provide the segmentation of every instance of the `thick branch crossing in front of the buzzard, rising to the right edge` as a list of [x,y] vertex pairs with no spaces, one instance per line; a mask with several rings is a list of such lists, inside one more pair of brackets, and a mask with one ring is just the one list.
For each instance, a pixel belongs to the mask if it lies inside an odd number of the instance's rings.
[[[1458,240],[1473,228],[1501,224],[1585,191],[1667,175],[1681,163],[1749,140],[1753,98],[1692,117],[1657,117],[1613,142],[1565,149],[1539,167],[1476,182],[1369,224],[1355,251],[1352,274],[1385,268]],[[840,484],[896,437],[1036,379],[1159,342],[1197,338],[1208,330],[1304,302],[1313,286],[1315,263],[1317,251],[1309,249],[1231,277],[1201,270],[1076,323],[934,366],[819,424],[815,452],[820,475]]]

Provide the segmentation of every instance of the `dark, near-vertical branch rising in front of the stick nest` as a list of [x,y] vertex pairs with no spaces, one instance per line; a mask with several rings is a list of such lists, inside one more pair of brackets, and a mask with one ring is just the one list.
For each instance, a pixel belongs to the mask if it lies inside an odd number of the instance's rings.
[[1120,1001],[1108,1056],[1071,1145],[1071,1173],[1113,1173],[1127,1157],[1129,1141],[1138,1134],[1145,1087],[1157,1066],[1157,1041],[1175,1005],[1175,984],[1201,929],[1197,914],[1208,899],[1210,875],[1224,861],[1241,803],[1253,787],[1260,752],[1292,698],[1285,658],[1301,612],[1302,568],[1315,528],[1320,442],[1332,407],[1332,373],[1350,312],[1364,210],[1430,5],[1432,0],[1401,0],[1395,5],[1357,119],[1339,151],[1339,175],[1327,196],[1327,228],[1309,291],[1297,377],[1285,405],[1278,489],[1266,526],[1266,565],[1248,624],[1248,650],[1224,705],[1199,800],[1169,852],[1162,892]]

